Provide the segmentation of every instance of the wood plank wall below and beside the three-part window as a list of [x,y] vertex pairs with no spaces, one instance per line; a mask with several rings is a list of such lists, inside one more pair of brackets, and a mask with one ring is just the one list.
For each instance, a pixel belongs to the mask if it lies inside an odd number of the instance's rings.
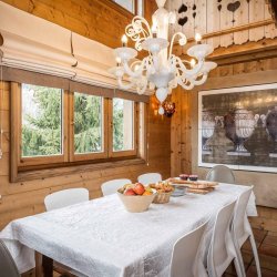
[[[130,178],[147,172],[160,172],[164,177],[170,176],[171,121],[156,114],[155,99],[152,99],[148,114],[148,165],[130,165],[127,167],[105,168],[94,172],[59,177],[35,179],[30,182],[9,182],[9,141],[10,141],[10,84],[4,83],[3,103],[3,157],[0,160],[0,229],[9,222],[23,216],[44,212],[44,197],[55,191],[85,187],[90,198],[101,196],[100,186],[113,178]],[[162,140],[161,140],[162,137]]]

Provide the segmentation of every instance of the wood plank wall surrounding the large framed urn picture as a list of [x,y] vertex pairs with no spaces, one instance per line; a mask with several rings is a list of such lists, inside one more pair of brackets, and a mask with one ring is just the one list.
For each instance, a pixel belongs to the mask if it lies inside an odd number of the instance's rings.
[[[242,47],[242,51],[247,45]],[[261,49],[260,51],[265,51]],[[277,50],[274,50],[277,54]],[[258,53],[256,53],[259,57]],[[266,54],[265,54],[266,55]],[[255,55],[254,55],[255,57]],[[276,57],[276,55],[275,55]],[[244,58],[240,58],[244,60]],[[237,62],[218,66],[211,72],[211,78],[206,86],[211,83],[223,85],[226,80],[237,85],[237,82],[252,78],[253,83],[263,82],[266,79],[277,81],[277,58],[252,59],[249,62]],[[250,74],[250,75],[249,75]],[[248,80],[249,81],[249,80]],[[246,80],[245,80],[246,82]],[[206,89],[206,86],[204,89]],[[201,88],[202,89],[202,88]],[[197,89],[195,91],[184,91],[176,89],[172,99],[176,104],[176,112],[172,117],[171,135],[171,175],[176,176],[181,173],[195,173],[204,178],[209,168],[197,166]],[[276,174],[260,172],[235,172],[236,179],[242,184],[254,184],[255,193],[259,207],[259,216],[252,219],[254,227],[277,233],[277,185]],[[266,207],[268,206],[268,207]],[[270,208],[271,207],[271,208]]]

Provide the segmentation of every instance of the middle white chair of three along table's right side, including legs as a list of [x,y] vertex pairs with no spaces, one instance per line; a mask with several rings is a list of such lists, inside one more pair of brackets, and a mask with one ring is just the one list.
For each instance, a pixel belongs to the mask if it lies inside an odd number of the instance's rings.
[[236,202],[224,206],[216,215],[212,242],[207,255],[208,276],[220,277],[234,260],[238,277],[245,277],[230,233]]

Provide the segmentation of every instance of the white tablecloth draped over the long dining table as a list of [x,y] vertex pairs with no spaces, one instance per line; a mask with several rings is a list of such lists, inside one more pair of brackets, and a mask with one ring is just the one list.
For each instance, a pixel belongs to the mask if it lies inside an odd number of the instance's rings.
[[[220,184],[207,195],[172,197],[168,204],[152,204],[138,214],[127,213],[117,195],[111,195],[13,220],[0,238],[21,271],[34,266],[35,249],[86,276],[168,276],[176,239],[245,189]],[[256,214],[252,196],[248,215]],[[203,253],[207,245],[204,239]]]

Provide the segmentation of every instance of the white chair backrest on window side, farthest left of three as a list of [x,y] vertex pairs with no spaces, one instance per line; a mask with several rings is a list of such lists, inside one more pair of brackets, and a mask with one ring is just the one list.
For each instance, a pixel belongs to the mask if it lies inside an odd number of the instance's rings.
[[44,198],[47,211],[62,208],[81,202],[89,201],[89,191],[86,188],[69,188],[52,193]]

